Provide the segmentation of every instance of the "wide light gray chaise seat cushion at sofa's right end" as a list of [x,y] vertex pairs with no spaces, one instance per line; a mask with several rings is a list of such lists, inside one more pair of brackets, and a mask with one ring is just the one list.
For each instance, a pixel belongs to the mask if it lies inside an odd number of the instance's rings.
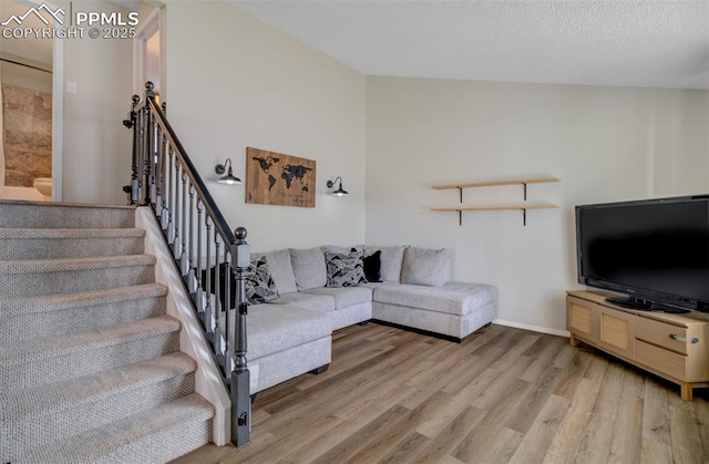
[[374,301],[450,315],[466,316],[497,298],[495,287],[482,283],[449,282],[443,287],[401,283],[374,287]]

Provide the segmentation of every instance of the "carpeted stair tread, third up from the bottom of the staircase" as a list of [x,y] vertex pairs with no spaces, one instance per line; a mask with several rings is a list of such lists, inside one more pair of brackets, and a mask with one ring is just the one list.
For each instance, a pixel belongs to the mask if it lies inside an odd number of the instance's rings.
[[6,347],[0,346],[0,365],[17,365],[38,359],[95,350],[161,333],[176,332],[179,328],[179,321],[172,316],[158,316],[64,337],[23,340]]

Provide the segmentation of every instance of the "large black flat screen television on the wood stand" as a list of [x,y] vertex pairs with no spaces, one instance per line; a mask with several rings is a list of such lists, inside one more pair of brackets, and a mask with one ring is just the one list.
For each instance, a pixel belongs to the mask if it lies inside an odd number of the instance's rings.
[[578,281],[621,307],[709,312],[709,195],[576,206]]

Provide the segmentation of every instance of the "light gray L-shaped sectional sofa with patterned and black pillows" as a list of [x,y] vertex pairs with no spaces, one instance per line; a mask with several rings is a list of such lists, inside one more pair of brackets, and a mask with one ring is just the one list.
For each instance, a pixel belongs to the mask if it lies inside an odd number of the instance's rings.
[[[496,317],[496,289],[452,282],[448,250],[316,247],[253,254],[251,394],[330,363],[331,333],[369,320],[462,341]],[[364,278],[368,268],[370,280]],[[376,272],[378,271],[378,272]],[[379,277],[376,279],[373,277]]]

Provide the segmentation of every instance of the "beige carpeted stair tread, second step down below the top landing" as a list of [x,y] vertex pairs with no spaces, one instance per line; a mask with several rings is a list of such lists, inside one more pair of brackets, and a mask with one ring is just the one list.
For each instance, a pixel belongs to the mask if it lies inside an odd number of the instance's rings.
[[154,255],[99,256],[92,258],[29,259],[0,261],[0,275],[92,270],[155,265]]

